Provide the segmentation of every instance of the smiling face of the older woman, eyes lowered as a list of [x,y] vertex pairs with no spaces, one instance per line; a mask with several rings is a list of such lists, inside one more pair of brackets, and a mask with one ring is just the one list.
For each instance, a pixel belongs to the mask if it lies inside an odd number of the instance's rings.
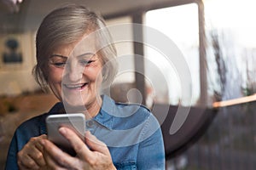
[[90,39],[62,45],[49,57],[49,87],[71,107],[90,107],[100,99],[102,60]]

